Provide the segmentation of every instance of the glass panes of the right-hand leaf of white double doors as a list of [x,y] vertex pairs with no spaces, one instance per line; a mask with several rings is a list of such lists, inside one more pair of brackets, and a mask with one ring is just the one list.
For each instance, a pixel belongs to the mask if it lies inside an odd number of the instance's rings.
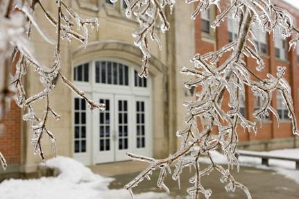
[[128,101],[118,102],[119,150],[128,149]]

